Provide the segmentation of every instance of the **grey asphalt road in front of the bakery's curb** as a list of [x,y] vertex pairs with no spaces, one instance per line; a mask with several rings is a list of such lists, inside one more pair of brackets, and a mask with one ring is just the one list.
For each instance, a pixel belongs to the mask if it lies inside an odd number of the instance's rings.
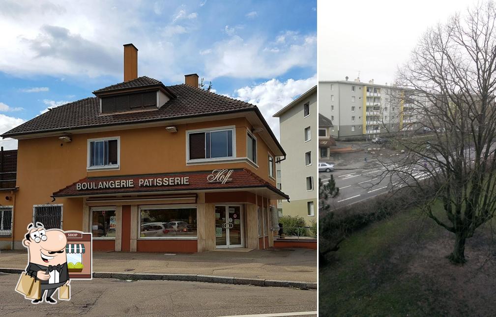
[[[0,273],[2,316],[269,317],[316,316],[317,310],[315,290],[100,278],[72,280],[71,300],[68,302],[33,305],[14,291],[18,278],[18,274]],[[57,294],[55,299],[58,299]]]

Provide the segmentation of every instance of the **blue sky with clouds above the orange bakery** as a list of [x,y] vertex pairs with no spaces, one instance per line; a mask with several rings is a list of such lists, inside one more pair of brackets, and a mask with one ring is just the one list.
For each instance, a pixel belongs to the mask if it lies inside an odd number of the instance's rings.
[[[0,132],[138,75],[166,85],[196,72],[271,116],[316,84],[316,0],[0,2]],[[2,141],[15,148],[14,141]]]

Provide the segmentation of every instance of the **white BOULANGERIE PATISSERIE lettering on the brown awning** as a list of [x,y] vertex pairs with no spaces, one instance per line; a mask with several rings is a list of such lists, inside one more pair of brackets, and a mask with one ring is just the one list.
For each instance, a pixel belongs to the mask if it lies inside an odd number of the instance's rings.
[[157,186],[189,185],[189,177],[140,178],[138,184],[131,180],[83,182],[76,184],[76,190],[100,190],[109,188],[143,188]]

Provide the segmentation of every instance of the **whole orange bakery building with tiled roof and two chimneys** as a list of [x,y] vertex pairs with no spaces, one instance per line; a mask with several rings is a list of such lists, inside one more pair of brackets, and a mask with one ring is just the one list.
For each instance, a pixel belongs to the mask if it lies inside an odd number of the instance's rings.
[[124,82],[3,133],[18,150],[0,248],[24,249],[32,221],[91,232],[94,251],[273,246],[286,153],[258,108],[198,88],[196,74],[138,77],[137,55],[124,45]]

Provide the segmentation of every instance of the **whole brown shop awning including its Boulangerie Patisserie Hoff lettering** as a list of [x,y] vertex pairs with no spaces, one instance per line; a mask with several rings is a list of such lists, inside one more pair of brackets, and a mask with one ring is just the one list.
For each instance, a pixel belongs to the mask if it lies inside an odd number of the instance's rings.
[[205,190],[268,190],[277,199],[289,199],[271,183],[248,169],[213,170],[113,177],[86,177],[53,193],[52,197],[145,195]]

